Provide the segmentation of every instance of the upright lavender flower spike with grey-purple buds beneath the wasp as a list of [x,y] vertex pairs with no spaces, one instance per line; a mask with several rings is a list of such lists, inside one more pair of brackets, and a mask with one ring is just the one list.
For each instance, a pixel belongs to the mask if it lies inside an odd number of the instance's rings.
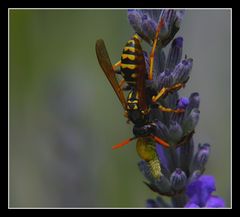
[[[153,81],[147,85],[156,90],[168,88],[176,83],[186,83],[193,66],[193,59],[182,59],[183,38],[177,37],[184,15],[183,10],[128,10],[129,23],[148,44],[152,45],[159,20],[164,26],[159,34],[154,56]],[[167,57],[164,47],[171,43]],[[146,58],[148,70],[149,61]],[[141,160],[139,169],[147,179],[145,184],[158,193],[155,200],[148,199],[147,207],[224,207],[224,201],[213,196],[215,180],[203,175],[210,154],[207,143],[196,146],[193,139],[199,120],[200,98],[197,92],[189,97],[179,97],[177,91],[159,99],[159,103],[169,108],[184,109],[183,113],[166,113],[151,109],[150,121],[157,124],[156,135],[170,144],[165,149],[154,141],[151,146],[153,160]],[[140,140],[141,141],[141,140]],[[140,146],[141,142],[138,142]],[[157,172],[156,172],[157,171]],[[162,196],[171,198],[171,204]]]

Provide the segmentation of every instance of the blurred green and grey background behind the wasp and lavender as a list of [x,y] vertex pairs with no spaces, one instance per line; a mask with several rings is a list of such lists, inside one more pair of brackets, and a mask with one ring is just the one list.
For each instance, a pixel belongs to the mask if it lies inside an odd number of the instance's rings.
[[[123,110],[101,71],[133,34],[126,10],[9,10],[10,206],[144,207],[155,198],[137,168]],[[182,96],[199,92],[195,142],[212,145],[206,174],[230,206],[230,10],[187,10],[183,54],[194,59]]]

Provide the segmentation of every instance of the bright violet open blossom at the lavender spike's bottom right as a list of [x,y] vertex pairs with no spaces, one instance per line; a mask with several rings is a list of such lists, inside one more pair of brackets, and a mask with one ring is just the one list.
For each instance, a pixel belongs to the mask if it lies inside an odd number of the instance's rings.
[[189,197],[185,207],[224,207],[221,197],[211,195],[216,190],[213,176],[203,175],[187,186],[186,194]]

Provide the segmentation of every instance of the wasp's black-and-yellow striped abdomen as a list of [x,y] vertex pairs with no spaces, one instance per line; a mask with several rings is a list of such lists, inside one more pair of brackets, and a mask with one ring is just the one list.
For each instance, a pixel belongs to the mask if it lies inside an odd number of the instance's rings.
[[137,35],[134,35],[124,47],[120,68],[123,78],[130,86],[136,84],[138,73],[141,70],[146,70],[142,47]]

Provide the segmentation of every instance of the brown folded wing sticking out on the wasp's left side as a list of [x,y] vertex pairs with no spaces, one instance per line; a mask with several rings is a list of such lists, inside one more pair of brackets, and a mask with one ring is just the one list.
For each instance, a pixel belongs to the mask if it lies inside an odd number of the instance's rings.
[[114,72],[112,68],[112,63],[110,61],[110,58],[108,56],[108,52],[105,46],[105,43],[102,39],[99,39],[96,41],[96,54],[98,58],[98,62],[105,73],[106,77],[108,78],[109,82],[111,83],[115,93],[117,94],[120,102],[122,103],[122,106],[124,109],[127,107],[126,99],[124,97],[123,91],[118,84],[116,73]]

